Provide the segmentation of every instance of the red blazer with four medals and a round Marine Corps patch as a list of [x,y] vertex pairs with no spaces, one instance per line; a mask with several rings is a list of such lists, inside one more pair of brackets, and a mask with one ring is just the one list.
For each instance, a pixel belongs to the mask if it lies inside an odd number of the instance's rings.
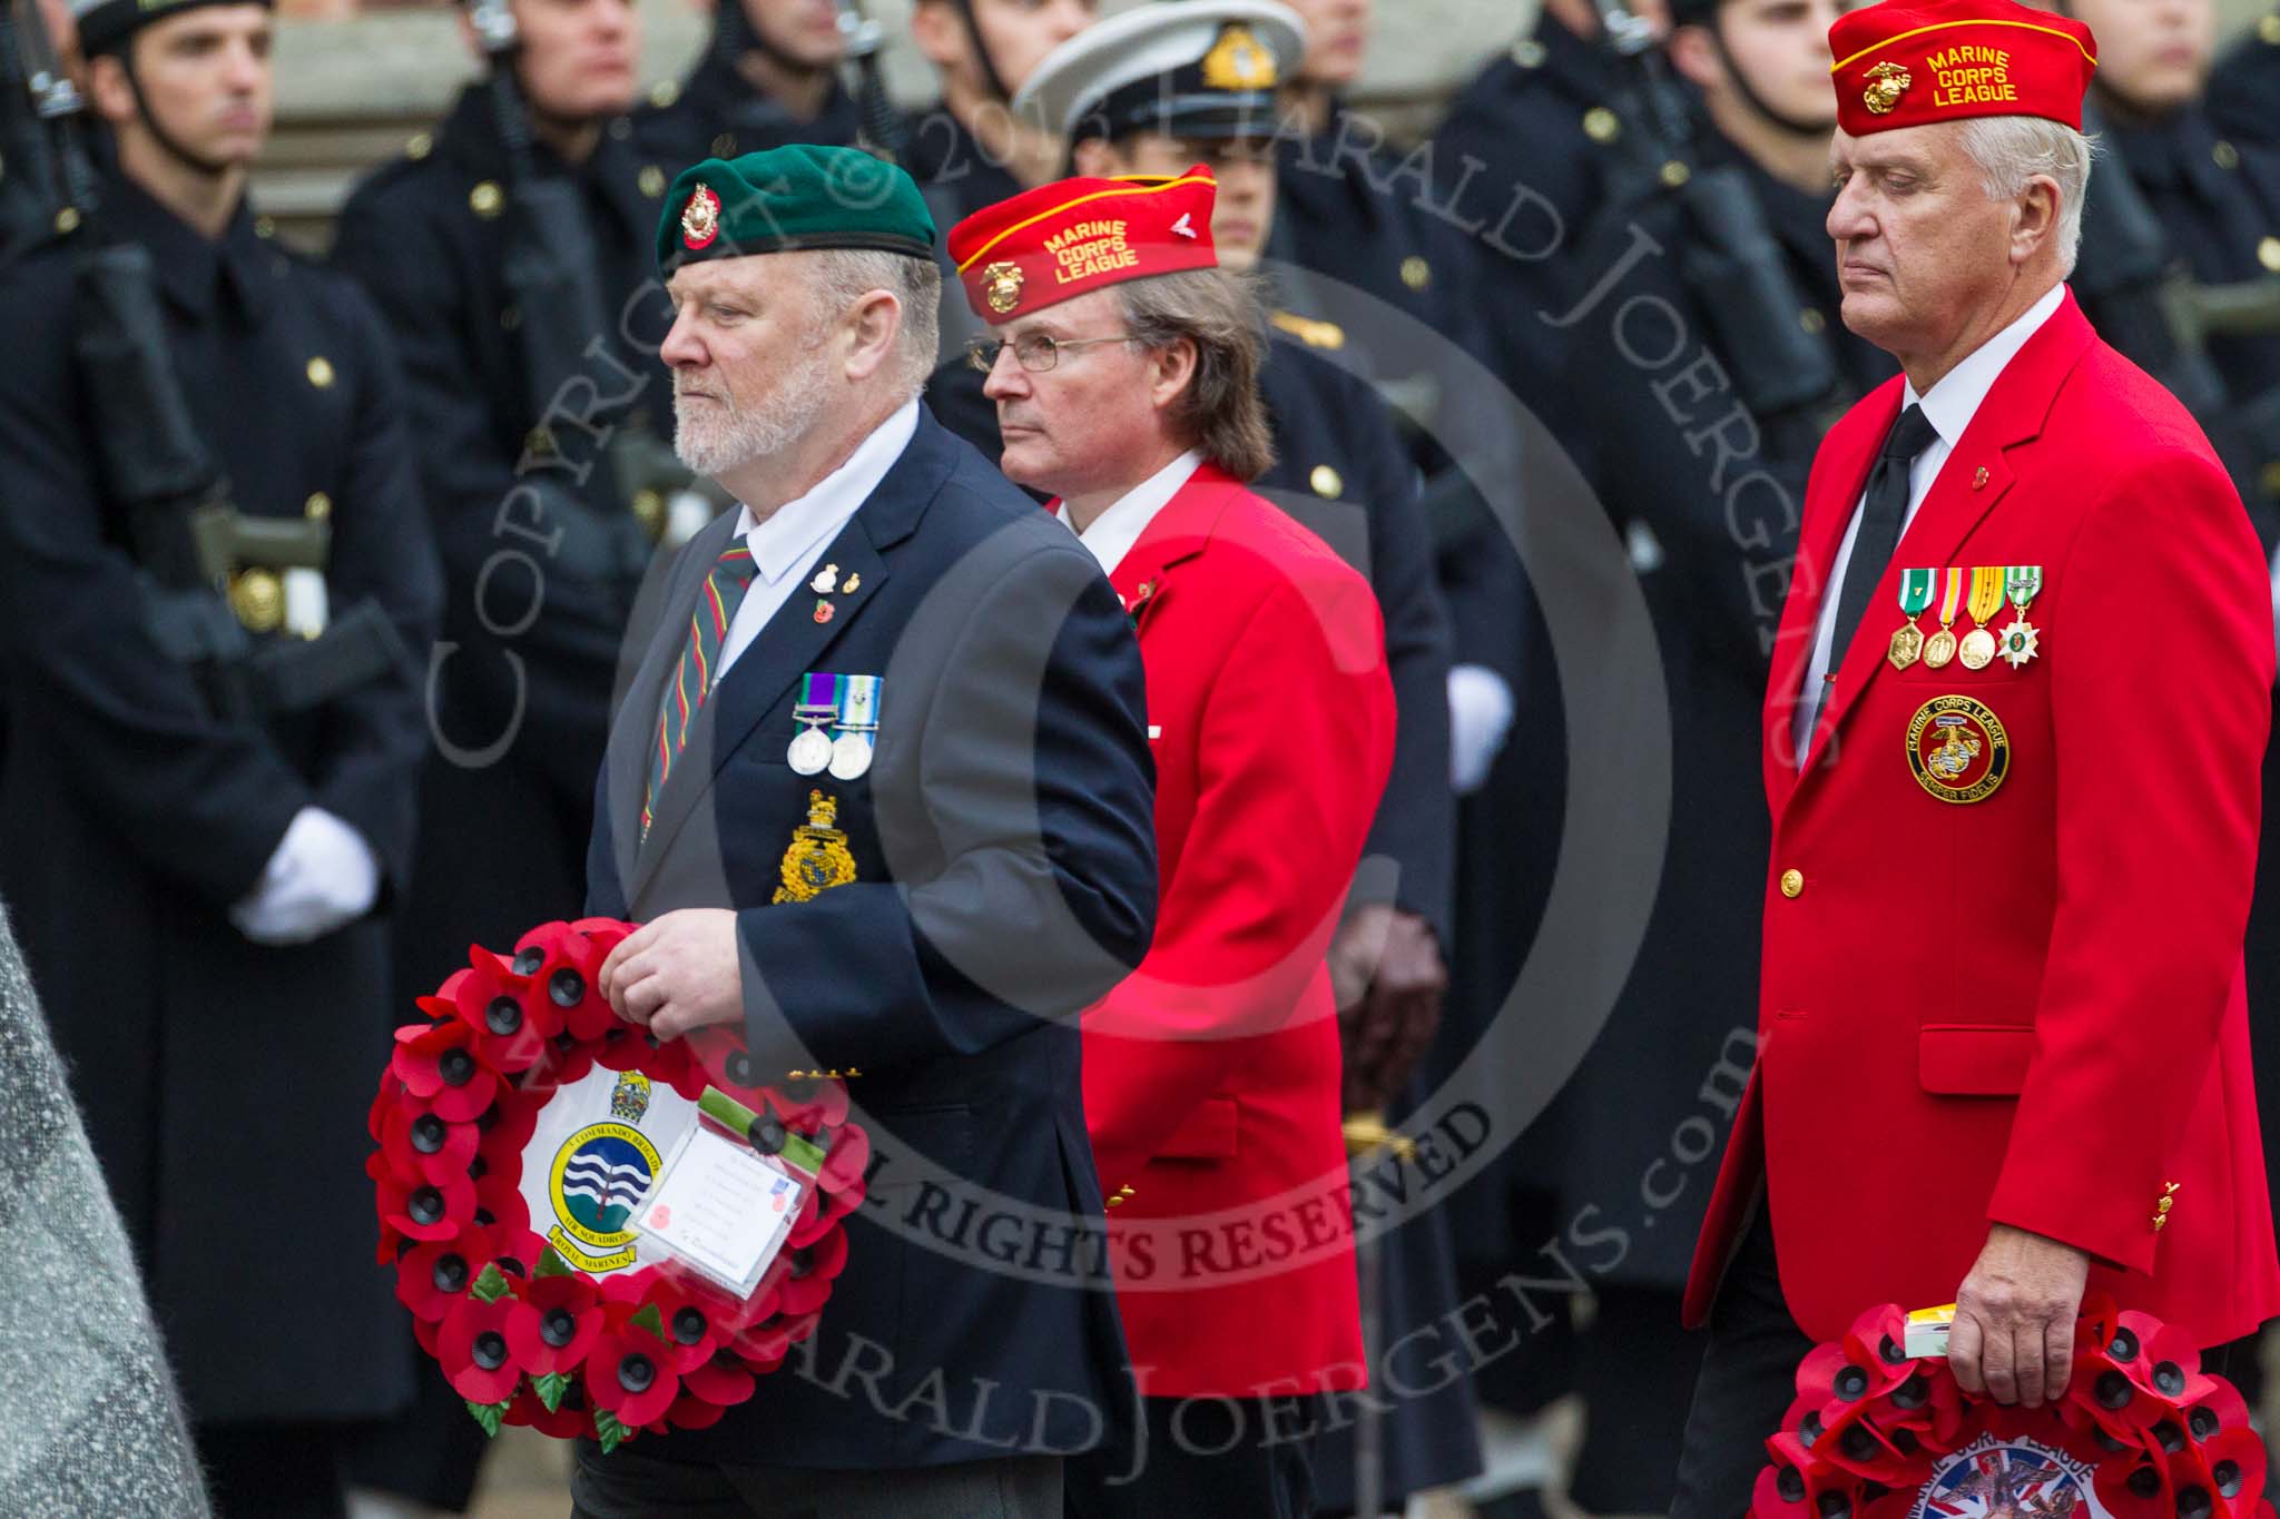
[[[1762,1175],[1815,1339],[1874,1303],[1954,1300],[1990,1223],[2088,1250],[2093,1291],[2205,1346],[2232,1339],[2280,1312],[2241,991],[2264,556],[2200,428],[2068,294],[1902,537],[1799,774],[1819,592],[1899,399],[1895,378],[1860,401],[1806,487],[1765,704],[1762,1045],[1687,1321]],[[1947,565],[2043,567],[2036,658],[1886,663],[1902,569]],[[1959,613],[1954,633],[1972,626]],[[1908,761],[1911,722],[1949,695],[2009,738],[2004,781],[1970,804],[1927,795]],[[1993,747],[1965,733],[1984,770]]]

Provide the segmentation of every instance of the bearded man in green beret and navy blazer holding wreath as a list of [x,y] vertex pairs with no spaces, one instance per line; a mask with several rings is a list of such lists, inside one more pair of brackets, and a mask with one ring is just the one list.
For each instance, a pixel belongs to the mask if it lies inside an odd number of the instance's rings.
[[933,246],[848,148],[666,194],[675,449],[736,508],[636,610],[588,911],[645,927],[602,991],[657,1038],[736,1029],[700,1045],[739,1084],[846,1073],[871,1196],[782,1371],[711,1428],[581,1446],[579,1519],[1058,1519],[1113,1421],[1076,1013],[1154,934],[1140,651],[1083,544],[919,403]]

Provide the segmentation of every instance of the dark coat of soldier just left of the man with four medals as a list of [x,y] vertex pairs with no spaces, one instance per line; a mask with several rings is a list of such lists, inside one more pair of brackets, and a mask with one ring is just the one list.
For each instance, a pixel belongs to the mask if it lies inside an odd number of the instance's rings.
[[[1703,355],[1719,376],[1731,376],[1737,360],[1712,328],[1705,298],[1678,276],[1699,232],[1669,198],[1628,207],[1626,225],[1610,230],[1630,237],[1635,219],[1669,248],[1667,257],[1632,264],[1578,321],[1569,376],[1596,419],[1601,501],[1610,526],[1630,542],[1655,624],[1671,724],[1671,818],[1646,941],[1553,1123],[1566,1202],[1596,1202],[1630,1227],[1630,1250],[1610,1278],[1664,1289],[1685,1284],[1710,1175],[1687,1177],[1664,1164],[1651,1182],[1642,1177],[1667,1159],[1678,1123],[1703,1116],[1724,1127],[1731,1114],[1699,1093],[1728,1034],[1758,1025],[1760,886],[1769,852],[1760,711],[1797,556],[1797,512],[1822,440],[1819,412],[1847,405],[1895,371],[1888,355],[1840,321],[1842,292],[1822,225],[1826,200],[1774,180],[1724,139],[1705,139],[1703,159],[1742,169],[1797,301],[1767,321],[1819,332],[1842,392],[1824,408],[1751,414],[1758,446],[1742,458],[1689,444],[1737,405],[1731,380],[1674,383],[1689,364],[1703,364]],[[1614,312],[1632,298],[1667,301],[1680,314],[1685,346],[1660,367],[1628,362],[1614,339]],[[1662,346],[1660,337],[1653,346],[1637,339],[1632,353]],[[1696,378],[1708,373],[1705,367]],[[1737,492],[1744,476],[1760,481]],[[1642,1187],[1660,1198],[1678,1182],[1685,1191],[1676,1202],[1648,1209],[1642,1200]],[[1655,1218],[1651,1230],[1642,1225],[1646,1214]]]

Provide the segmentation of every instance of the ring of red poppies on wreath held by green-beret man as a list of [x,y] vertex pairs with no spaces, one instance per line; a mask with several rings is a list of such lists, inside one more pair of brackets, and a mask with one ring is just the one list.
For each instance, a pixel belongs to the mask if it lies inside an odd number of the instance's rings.
[[[490,1435],[524,1423],[611,1451],[636,1430],[716,1423],[814,1332],[846,1266],[841,1221],[864,1198],[871,1157],[848,1123],[846,1086],[762,1084],[727,1027],[657,1041],[620,1020],[597,982],[634,927],[547,922],[513,954],[470,950],[467,970],[420,997],[429,1023],[397,1029],[372,1102],[378,1264],[394,1268],[420,1346]],[[821,1150],[803,1212],[750,1298],[670,1264],[595,1275],[531,1230],[524,1146],[547,1102],[595,1068],[689,1102],[718,1089],[755,1114],[748,1139],[762,1152]]]

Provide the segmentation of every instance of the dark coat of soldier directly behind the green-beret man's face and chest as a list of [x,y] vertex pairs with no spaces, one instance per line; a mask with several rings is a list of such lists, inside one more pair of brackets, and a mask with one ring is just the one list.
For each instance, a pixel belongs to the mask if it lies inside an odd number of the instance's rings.
[[[584,207],[600,296],[586,319],[508,280],[511,173],[481,84],[461,93],[433,146],[374,171],[340,214],[333,262],[365,285],[404,355],[447,578],[406,997],[463,968],[470,943],[513,945],[584,897],[609,690],[650,558],[602,437],[673,440],[673,378],[657,358],[670,307],[652,269],[670,169],[629,137],[611,123],[575,169],[531,153],[534,171],[568,178]],[[575,346],[604,339],[584,369],[591,396],[534,394],[524,344],[547,321],[570,321]],[[549,405],[540,451],[534,430]]]

